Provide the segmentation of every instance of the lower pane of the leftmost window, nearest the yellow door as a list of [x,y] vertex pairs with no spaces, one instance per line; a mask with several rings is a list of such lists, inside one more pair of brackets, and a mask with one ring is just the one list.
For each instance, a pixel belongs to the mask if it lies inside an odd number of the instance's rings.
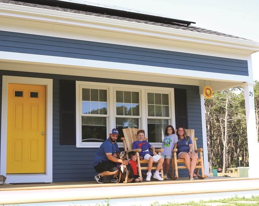
[[82,142],[103,142],[106,131],[106,117],[82,117]]

